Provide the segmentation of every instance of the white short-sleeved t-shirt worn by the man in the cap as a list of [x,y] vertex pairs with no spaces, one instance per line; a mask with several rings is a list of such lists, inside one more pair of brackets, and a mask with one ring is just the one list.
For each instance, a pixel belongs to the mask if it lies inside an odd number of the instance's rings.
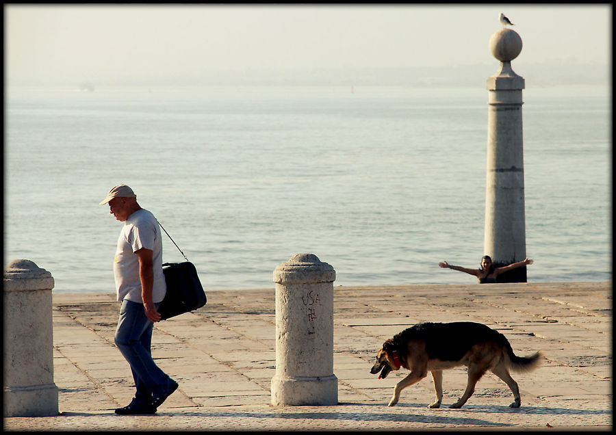
[[127,299],[143,303],[141,299],[141,280],[139,278],[139,259],[135,254],[141,248],[152,251],[154,287],[152,300],[160,302],[165,297],[167,286],[162,271],[162,240],[160,226],[152,213],[140,209],[132,213],[124,222],[118,237],[118,247],[114,258],[114,278],[118,301]]

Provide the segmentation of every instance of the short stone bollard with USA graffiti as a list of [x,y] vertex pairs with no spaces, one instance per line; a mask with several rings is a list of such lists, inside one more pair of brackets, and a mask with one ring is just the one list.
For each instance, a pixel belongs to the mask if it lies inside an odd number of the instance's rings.
[[273,406],[338,404],[338,378],[333,374],[335,279],[333,267],[314,254],[297,254],[274,270]]

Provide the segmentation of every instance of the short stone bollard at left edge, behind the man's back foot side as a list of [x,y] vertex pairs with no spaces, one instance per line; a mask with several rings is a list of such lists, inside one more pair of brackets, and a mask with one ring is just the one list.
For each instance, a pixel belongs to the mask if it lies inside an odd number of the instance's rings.
[[53,277],[29,260],[4,271],[4,417],[57,415],[53,383]]

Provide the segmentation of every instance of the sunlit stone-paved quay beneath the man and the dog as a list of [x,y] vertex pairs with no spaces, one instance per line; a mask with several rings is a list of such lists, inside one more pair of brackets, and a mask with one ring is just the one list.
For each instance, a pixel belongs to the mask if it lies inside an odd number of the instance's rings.
[[[612,293],[607,282],[334,287],[335,406],[271,405],[276,373],[275,291],[207,291],[207,304],[155,324],[153,356],[178,384],[151,416],[119,416],[130,369],[114,344],[112,293],[53,294],[54,382],[60,414],[3,419],[5,431],[598,430],[612,423]],[[422,321],[477,321],[517,355],[546,359],[514,373],[521,408],[488,373],[461,409],[464,367],[444,372],[444,399],[428,409],[431,376],[387,406],[396,382],[369,370],[385,339]]]

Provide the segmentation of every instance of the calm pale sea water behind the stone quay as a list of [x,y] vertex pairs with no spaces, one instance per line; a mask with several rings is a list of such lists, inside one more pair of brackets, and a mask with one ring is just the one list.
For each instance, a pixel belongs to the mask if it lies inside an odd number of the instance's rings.
[[[611,280],[609,95],[524,90],[529,282]],[[10,90],[5,264],[113,292],[122,224],[99,201],[127,183],[206,289],[273,288],[300,252],[335,285],[474,283],[437,263],[484,254],[487,110],[481,86]]]

